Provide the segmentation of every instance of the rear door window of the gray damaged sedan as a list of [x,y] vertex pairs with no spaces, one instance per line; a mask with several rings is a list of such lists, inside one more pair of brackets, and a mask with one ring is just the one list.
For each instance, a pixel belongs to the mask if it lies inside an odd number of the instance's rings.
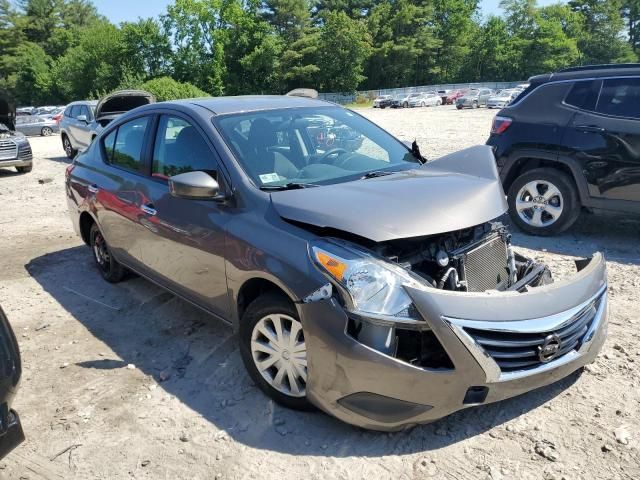
[[109,133],[103,140],[107,161],[125,170],[139,172],[148,124],[148,117],[140,117],[120,125]]

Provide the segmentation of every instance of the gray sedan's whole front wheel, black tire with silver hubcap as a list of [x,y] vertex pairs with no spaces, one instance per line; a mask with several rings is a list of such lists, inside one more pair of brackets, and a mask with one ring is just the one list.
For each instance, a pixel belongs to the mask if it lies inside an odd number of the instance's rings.
[[[286,332],[287,329],[291,331],[295,328],[296,339],[302,339],[301,343],[304,346],[302,325],[293,304],[283,295],[264,294],[251,302],[240,321],[239,344],[244,366],[254,383],[269,398],[295,410],[313,410],[314,407],[306,396],[306,347],[303,353],[298,352],[295,356],[294,352],[282,349],[277,342],[278,334],[274,323],[276,321],[281,322],[281,331]],[[297,323],[296,327],[293,327],[294,322]],[[262,333],[265,331],[270,333],[272,340]],[[300,348],[301,343],[297,342],[297,348]],[[266,353],[267,350],[261,350],[260,347],[256,350],[252,344],[260,344],[262,348],[274,352],[274,355]],[[284,345],[286,348],[289,346],[288,343]],[[284,357],[285,354],[286,357]],[[260,370],[256,365],[256,362],[272,361],[273,358],[277,358],[277,360],[275,363],[272,362],[267,369]],[[296,362],[296,359],[304,360],[304,367]],[[286,369],[287,366],[292,367],[290,371],[293,372],[293,383],[290,380],[289,370]],[[303,374],[300,373],[300,368],[304,368]],[[278,389],[274,386],[274,382],[281,371],[287,373],[283,374],[281,388]],[[293,384],[296,385],[298,394],[295,393]]]

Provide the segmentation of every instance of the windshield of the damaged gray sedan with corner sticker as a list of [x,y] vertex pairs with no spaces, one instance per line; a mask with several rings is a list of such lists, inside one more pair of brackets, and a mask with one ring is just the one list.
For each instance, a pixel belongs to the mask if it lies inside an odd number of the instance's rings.
[[340,107],[229,114],[213,122],[258,187],[327,185],[421,163],[396,138]]

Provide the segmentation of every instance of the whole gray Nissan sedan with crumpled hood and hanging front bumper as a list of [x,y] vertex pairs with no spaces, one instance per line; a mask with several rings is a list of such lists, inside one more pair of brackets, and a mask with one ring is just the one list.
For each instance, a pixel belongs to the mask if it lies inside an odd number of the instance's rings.
[[289,407],[397,430],[548,385],[605,339],[603,257],[553,283],[514,251],[486,146],[425,162],[331,103],[184,100],[110,123],[66,189],[107,281],[232,324]]

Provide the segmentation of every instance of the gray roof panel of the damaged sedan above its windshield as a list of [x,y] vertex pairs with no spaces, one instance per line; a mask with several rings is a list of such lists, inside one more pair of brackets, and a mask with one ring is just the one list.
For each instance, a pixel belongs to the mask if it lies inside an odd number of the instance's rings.
[[155,104],[174,104],[183,106],[197,105],[209,110],[216,115],[227,113],[253,112],[261,110],[274,110],[280,108],[300,107],[334,107],[334,103],[325,102],[307,97],[295,97],[286,95],[242,95],[237,97],[206,97],[190,98]]

